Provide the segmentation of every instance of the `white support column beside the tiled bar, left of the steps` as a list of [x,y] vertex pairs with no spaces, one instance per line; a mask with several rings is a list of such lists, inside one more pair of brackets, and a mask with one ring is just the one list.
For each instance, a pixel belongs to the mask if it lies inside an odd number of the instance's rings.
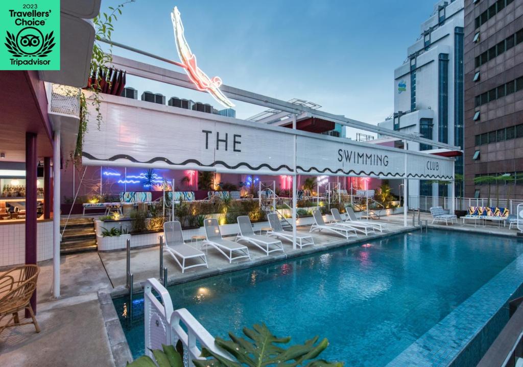
[[[74,168],[72,168],[74,175]],[[53,296],[60,297],[60,130],[53,138]]]

